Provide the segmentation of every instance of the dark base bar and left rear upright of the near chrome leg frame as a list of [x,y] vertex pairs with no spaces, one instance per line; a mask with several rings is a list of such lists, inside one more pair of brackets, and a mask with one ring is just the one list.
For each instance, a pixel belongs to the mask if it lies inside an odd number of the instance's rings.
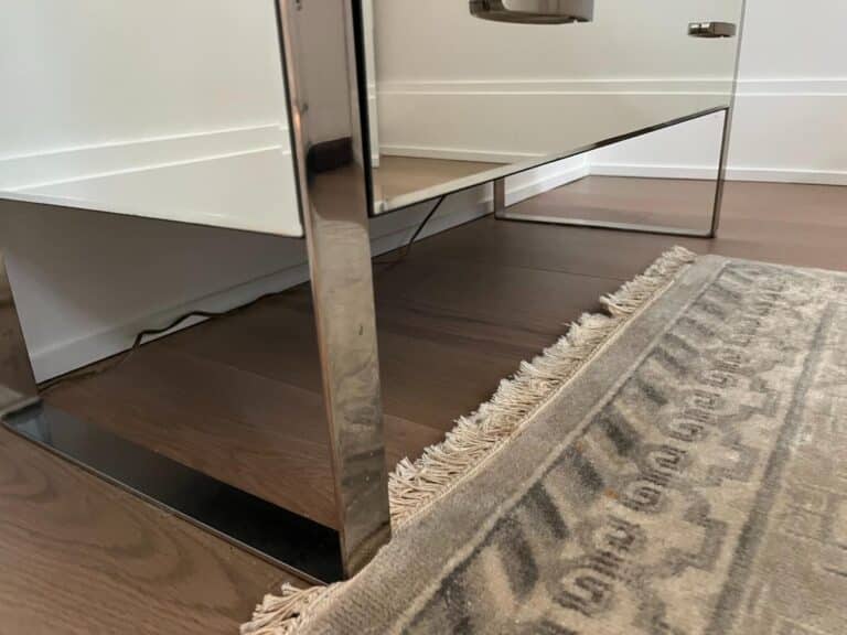
[[[0,216],[33,205],[0,201]],[[335,529],[42,403],[2,255],[0,335],[0,421],[8,430],[304,580],[344,577]]]

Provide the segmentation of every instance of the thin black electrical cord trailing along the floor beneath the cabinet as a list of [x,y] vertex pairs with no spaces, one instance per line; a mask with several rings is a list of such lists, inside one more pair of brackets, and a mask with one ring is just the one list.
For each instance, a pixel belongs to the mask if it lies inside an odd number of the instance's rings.
[[[404,259],[406,259],[411,252],[411,245],[415,243],[415,240],[420,236],[420,233],[424,230],[424,227],[426,227],[427,223],[429,223],[430,218],[435,216],[436,212],[438,212],[438,208],[441,207],[441,203],[444,202],[444,198],[447,198],[447,195],[444,194],[441,196],[438,201],[436,201],[436,204],[432,206],[432,208],[429,211],[427,216],[424,218],[424,220],[418,225],[418,228],[415,230],[415,234],[412,234],[411,238],[408,243],[406,243],[405,246],[400,246],[398,248],[398,251],[400,252],[398,257],[394,260],[374,260],[375,265],[397,265],[398,262],[401,262]],[[232,315],[234,313],[238,313],[239,311],[244,311],[246,309],[249,309],[250,306],[254,306],[255,304],[258,304],[262,300],[267,300],[269,298],[275,298],[277,295],[282,295],[283,293],[290,292],[291,289],[283,289],[281,291],[271,291],[270,293],[264,293],[262,295],[259,295],[258,298],[250,300],[246,304],[242,304],[240,306],[235,306],[234,309],[229,309],[227,311],[203,311],[203,310],[195,310],[190,311],[189,313],[185,313],[184,315],[180,315],[175,320],[173,320],[170,324],[167,326],[162,326],[160,329],[144,329],[141,331],[138,335],[136,335],[136,338],[132,341],[132,346],[125,351],[124,353],[120,353],[112,357],[109,360],[103,362],[96,366],[93,367],[86,367],[81,368],[79,370],[72,370],[71,373],[67,373],[65,375],[62,375],[61,377],[56,377],[55,379],[50,379],[49,381],[44,381],[43,384],[39,385],[39,394],[40,395],[46,395],[51,390],[53,390],[56,386],[60,384],[64,384],[66,381],[78,381],[81,379],[86,379],[88,377],[96,377],[97,375],[100,375],[105,373],[106,370],[112,370],[117,368],[118,366],[125,364],[127,360],[129,360],[132,355],[135,355],[136,351],[138,351],[141,345],[144,343],[144,340],[147,337],[153,337],[156,335],[161,335],[163,333],[168,333],[172,329],[176,329],[180,324],[183,322],[191,320],[192,318],[201,318],[205,320],[214,320],[216,318],[223,318],[225,315]]]

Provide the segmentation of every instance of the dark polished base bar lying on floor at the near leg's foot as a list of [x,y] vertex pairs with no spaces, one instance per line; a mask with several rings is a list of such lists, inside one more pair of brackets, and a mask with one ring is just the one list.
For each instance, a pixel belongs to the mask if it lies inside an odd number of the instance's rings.
[[76,465],[311,582],[342,579],[339,534],[47,405],[3,423]]

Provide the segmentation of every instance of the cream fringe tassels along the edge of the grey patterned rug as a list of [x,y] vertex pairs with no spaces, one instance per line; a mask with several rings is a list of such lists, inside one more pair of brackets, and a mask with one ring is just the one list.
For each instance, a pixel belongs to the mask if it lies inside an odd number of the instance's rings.
[[[476,412],[460,418],[443,442],[428,448],[414,463],[404,459],[388,481],[395,531],[496,454],[602,344],[695,259],[696,255],[683,247],[662,255],[617,293],[601,298],[608,315],[582,315],[567,335],[532,363],[522,363],[513,378],[501,381],[494,396]],[[281,595],[265,596],[253,622],[242,626],[242,635],[293,635],[315,606],[332,598],[342,584],[304,590],[285,584]]]

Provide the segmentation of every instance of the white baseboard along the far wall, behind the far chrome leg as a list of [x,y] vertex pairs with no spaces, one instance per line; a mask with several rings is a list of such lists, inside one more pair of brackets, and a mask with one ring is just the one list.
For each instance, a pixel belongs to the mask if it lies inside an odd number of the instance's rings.
[[[641,176],[646,179],[715,179],[717,170],[705,165],[651,165],[639,163],[591,163],[596,176]],[[774,168],[728,168],[730,181],[763,183],[808,183],[847,185],[847,172]]]

